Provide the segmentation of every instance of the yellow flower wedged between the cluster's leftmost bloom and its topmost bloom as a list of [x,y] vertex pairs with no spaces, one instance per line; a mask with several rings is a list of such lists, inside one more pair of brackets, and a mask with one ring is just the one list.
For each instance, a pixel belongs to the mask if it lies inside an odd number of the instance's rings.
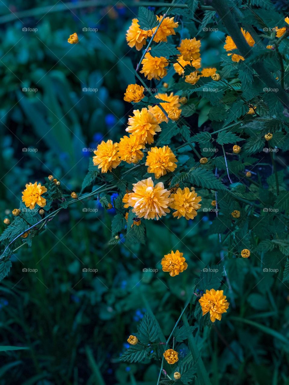
[[139,143],[138,136],[124,136],[120,139],[118,144],[118,156],[120,157],[121,161],[127,162],[129,164],[137,163],[143,159],[143,152],[141,151],[142,149],[144,149],[144,145]]

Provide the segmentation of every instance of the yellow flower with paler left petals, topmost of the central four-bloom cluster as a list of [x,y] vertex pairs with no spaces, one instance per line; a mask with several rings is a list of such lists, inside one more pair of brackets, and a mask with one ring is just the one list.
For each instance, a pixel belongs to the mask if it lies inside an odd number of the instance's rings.
[[139,143],[152,144],[153,136],[156,132],[161,131],[156,118],[146,108],[142,108],[141,111],[133,110],[133,115],[128,119],[129,126],[126,128],[126,131],[137,136]]

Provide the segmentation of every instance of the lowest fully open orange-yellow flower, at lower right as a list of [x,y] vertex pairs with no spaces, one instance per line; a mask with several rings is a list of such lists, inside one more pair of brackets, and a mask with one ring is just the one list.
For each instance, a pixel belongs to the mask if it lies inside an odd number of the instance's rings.
[[229,302],[226,296],[223,295],[223,290],[206,290],[206,293],[199,299],[202,307],[203,316],[210,311],[210,320],[221,320],[222,313],[227,313]]

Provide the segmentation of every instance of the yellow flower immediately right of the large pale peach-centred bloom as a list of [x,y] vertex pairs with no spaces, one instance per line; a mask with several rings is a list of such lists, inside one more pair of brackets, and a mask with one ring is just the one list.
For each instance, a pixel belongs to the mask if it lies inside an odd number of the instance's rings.
[[201,204],[202,198],[198,196],[197,192],[190,191],[188,187],[183,190],[178,188],[175,194],[171,194],[172,202],[170,208],[176,210],[173,213],[174,217],[180,219],[182,216],[187,220],[194,219],[197,216],[197,211]]

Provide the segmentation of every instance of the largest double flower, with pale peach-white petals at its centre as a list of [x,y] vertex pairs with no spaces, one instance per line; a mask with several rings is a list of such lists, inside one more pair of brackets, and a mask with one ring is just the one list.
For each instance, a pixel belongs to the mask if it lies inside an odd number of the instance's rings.
[[170,212],[169,197],[170,191],[165,189],[163,183],[154,186],[150,177],[133,184],[133,192],[123,198],[124,208],[133,207],[132,211],[138,218],[159,219]]

